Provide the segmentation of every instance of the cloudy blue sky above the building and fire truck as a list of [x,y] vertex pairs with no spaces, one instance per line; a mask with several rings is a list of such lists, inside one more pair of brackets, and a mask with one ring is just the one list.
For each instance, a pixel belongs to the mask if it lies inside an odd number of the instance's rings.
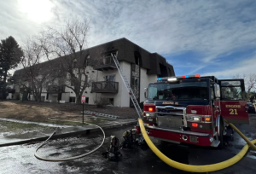
[[256,73],[255,9],[254,0],[9,0],[0,2],[0,38],[22,44],[44,26],[87,18],[89,47],[128,38],[177,75],[231,78]]

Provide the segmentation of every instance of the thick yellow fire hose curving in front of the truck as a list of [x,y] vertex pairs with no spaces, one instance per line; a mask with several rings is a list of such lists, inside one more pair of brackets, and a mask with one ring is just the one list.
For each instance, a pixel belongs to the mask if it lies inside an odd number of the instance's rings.
[[154,146],[154,143],[151,142],[151,140],[149,139],[148,134],[147,134],[147,132],[145,130],[145,127],[144,127],[144,124],[143,124],[143,119],[138,119],[138,122],[139,122],[139,125],[140,125],[140,128],[141,128],[143,137],[144,137],[145,141],[147,142],[148,147],[151,148],[151,150],[154,152],[154,154],[156,154],[160,159],[162,159],[167,165],[170,165],[170,166],[172,166],[174,168],[177,168],[179,170],[182,170],[182,171],[209,172],[209,171],[222,170],[224,168],[229,167],[230,165],[236,164],[236,162],[238,162],[247,153],[249,145],[250,145],[250,147],[252,147],[253,149],[256,150],[256,146],[254,145],[256,143],[256,139],[250,142],[247,139],[247,137],[244,136],[241,133],[241,131],[239,131],[236,128],[235,125],[230,124],[225,120],[225,122],[227,124],[229,124],[247,142],[247,144],[241,149],[241,151],[238,154],[236,154],[236,156],[234,156],[233,158],[225,160],[225,161],[220,162],[220,163],[213,164],[213,165],[185,165],[183,163],[179,163],[177,161],[169,159],[168,157],[166,157],[165,154],[162,154],[160,152],[160,150]]

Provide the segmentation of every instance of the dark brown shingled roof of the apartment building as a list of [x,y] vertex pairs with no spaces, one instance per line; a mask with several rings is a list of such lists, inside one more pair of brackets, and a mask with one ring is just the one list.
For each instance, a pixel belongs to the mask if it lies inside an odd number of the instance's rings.
[[[135,63],[135,55],[140,57],[140,67],[147,69],[148,74],[161,74],[160,66],[164,66],[167,69],[168,76],[175,76],[174,69],[171,64],[166,61],[166,58],[159,55],[158,53],[150,53],[148,50],[143,49],[137,44],[132,43],[127,38],[119,38],[108,43],[99,44],[88,49],[83,50],[84,60],[78,60],[77,64],[79,66],[84,66],[84,61],[87,55],[90,55],[90,59],[93,60],[94,57],[99,56],[99,52],[111,52],[118,50],[118,60],[126,61],[129,63]],[[78,53],[79,54],[79,53]],[[61,61],[63,57],[55,58],[51,61],[45,61],[41,63],[43,66],[49,66],[51,63]],[[92,61],[93,62],[93,61]],[[41,66],[40,66],[41,67]],[[16,72],[20,72],[17,70]],[[15,73],[16,73],[15,72]]]

